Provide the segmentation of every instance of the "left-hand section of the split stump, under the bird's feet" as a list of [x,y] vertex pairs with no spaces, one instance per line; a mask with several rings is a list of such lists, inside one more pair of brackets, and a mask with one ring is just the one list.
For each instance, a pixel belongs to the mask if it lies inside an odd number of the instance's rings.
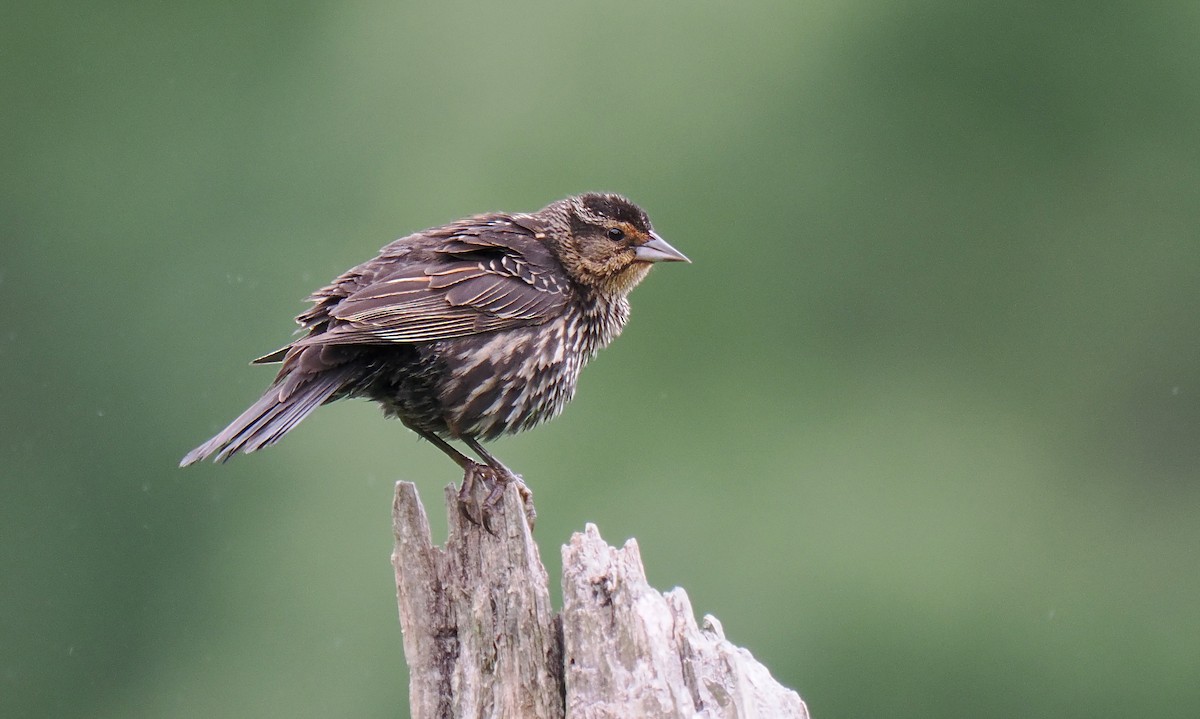
[[496,535],[462,516],[454,487],[445,495],[444,547],[413,484],[397,483],[392,505],[413,719],[562,717],[562,641],[516,485],[492,517]]

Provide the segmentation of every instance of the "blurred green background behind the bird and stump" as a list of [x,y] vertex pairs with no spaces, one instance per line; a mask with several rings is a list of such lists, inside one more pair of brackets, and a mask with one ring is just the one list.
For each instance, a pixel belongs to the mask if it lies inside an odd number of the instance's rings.
[[0,715],[406,715],[455,468],[364,402],[175,465],[310,290],[583,190],[695,264],[494,445],[553,581],[636,537],[820,719],[1200,715],[1195,2],[13,2],[0,64]]

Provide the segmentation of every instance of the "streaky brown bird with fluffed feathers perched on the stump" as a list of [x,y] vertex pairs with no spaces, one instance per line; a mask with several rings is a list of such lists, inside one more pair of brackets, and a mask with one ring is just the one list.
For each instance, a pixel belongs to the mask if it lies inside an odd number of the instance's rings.
[[461,502],[476,483],[488,489],[478,520],[521,481],[482,443],[563,411],[660,262],[691,260],[608,192],[403,236],[312,293],[295,318],[302,336],[252,363],[280,364],[275,381],[180,466],[256,451],[322,405],[366,399],[454,460]]

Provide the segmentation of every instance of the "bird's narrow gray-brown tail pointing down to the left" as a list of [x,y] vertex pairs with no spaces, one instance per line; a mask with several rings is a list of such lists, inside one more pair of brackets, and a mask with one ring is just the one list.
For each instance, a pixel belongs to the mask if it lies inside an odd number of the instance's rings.
[[250,409],[229,423],[216,437],[187,453],[179,466],[194,465],[214,454],[215,462],[223,462],[235,453],[252,453],[275,444],[313,409],[344,388],[352,375],[350,369],[342,366],[302,378],[295,373],[280,376]]

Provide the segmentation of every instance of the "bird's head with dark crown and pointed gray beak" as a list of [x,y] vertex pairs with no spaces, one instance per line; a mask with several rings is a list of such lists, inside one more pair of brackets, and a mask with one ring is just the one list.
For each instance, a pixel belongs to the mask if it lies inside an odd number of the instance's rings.
[[691,262],[655,234],[650,218],[619,194],[588,192],[568,197],[542,212],[556,215],[550,240],[576,282],[624,296],[656,262]]

